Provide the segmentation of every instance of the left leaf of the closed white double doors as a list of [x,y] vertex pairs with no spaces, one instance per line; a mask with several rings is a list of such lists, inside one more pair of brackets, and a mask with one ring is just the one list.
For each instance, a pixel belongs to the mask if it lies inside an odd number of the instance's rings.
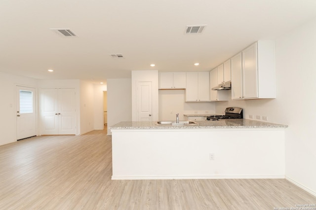
[[58,134],[58,89],[40,91],[41,134]]

